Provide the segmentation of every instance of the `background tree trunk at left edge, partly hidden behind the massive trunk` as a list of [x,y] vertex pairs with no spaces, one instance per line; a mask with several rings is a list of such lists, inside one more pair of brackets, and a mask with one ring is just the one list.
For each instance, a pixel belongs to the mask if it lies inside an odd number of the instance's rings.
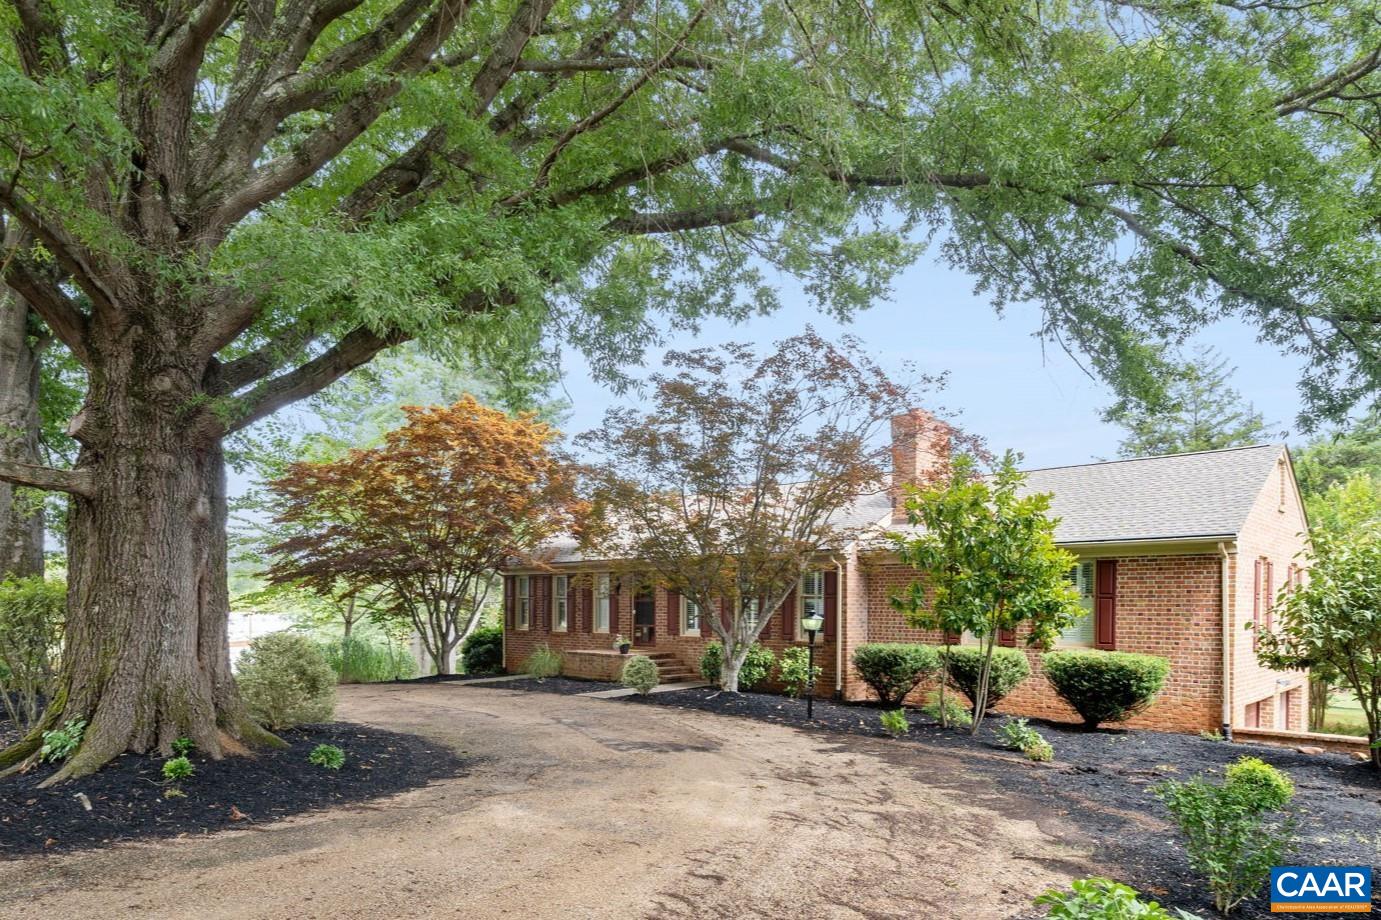
[[[29,305],[0,285],[0,460],[39,463],[39,352]],[[43,504],[0,481],[0,577],[43,575]]]

